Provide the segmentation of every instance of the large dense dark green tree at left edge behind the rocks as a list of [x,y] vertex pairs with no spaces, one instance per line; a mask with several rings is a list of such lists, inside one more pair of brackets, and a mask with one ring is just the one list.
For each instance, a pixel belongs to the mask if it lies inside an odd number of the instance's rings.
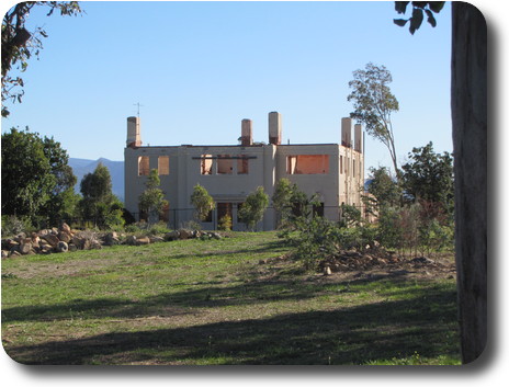
[[76,177],[59,143],[11,128],[2,134],[1,152],[2,214],[56,224],[75,213]]

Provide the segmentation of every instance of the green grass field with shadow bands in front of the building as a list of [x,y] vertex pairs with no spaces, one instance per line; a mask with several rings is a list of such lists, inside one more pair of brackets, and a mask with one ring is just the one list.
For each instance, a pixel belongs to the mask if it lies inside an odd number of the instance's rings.
[[453,276],[259,264],[287,251],[257,232],[3,260],[4,350],[24,364],[460,364]]

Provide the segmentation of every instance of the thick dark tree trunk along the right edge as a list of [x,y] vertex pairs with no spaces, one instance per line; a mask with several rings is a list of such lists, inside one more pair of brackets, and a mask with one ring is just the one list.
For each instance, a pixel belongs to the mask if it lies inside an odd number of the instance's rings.
[[463,363],[487,338],[487,26],[465,2],[452,2],[452,126],[456,270]]

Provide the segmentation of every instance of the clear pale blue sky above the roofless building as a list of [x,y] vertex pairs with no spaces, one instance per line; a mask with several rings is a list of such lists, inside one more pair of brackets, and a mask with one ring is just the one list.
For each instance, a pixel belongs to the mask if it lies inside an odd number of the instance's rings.
[[[452,151],[451,15],[412,36],[393,23],[394,2],[83,2],[87,14],[34,12],[39,60],[2,132],[54,136],[70,157],[123,159],[126,117],[139,102],[145,145],[237,144],[242,118],[268,140],[268,113],[283,141],[339,143],[352,72],[372,61],[393,75],[399,162],[432,140]],[[408,13],[408,12],[407,12]],[[391,166],[366,136],[366,168]]]

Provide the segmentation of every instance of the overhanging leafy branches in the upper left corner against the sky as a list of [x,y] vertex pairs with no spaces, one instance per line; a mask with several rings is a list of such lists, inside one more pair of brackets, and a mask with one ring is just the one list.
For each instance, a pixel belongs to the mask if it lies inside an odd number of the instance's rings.
[[55,10],[60,11],[60,15],[77,15],[82,12],[78,1],[24,1],[5,13],[2,20],[2,117],[9,115],[4,101],[21,102],[24,93],[23,90],[13,91],[24,84],[20,76],[10,75],[12,66],[18,65],[20,72],[25,71],[32,55],[38,57],[43,48],[42,37],[48,36],[42,27],[36,27],[32,33],[25,29],[25,21],[34,7],[47,8],[48,16]]

